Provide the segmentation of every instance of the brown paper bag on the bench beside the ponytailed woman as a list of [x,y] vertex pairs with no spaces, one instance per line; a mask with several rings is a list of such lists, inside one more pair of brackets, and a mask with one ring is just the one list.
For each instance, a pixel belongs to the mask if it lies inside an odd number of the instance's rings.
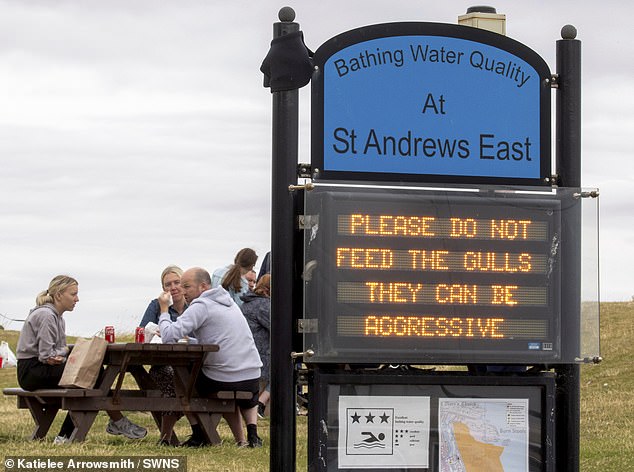
[[106,355],[107,345],[108,343],[103,338],[77,338],[75,347],[66,360],[59,386],[94,387]]

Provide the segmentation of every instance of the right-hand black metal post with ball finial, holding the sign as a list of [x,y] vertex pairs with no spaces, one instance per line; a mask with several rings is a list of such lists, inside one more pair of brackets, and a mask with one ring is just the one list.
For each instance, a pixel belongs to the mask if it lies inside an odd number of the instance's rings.
[[[563,39],[557,41],[557,173],[562,187],[581,187],[581,41],[576,40],[574,26],[566,25],[561,30]],[[579,336],[581,295],[581,212],[566,225],[562,240],[566,238],[570,254],[562,263],[565,273],[571,274],[564,284],[574,284],[566,289],[575,295],[570,297],[571,306],[562,307],[562,316],[569,317],[572,326],[569,336]],[[576,325],[572,323],[576,320]],[[574,328],[576,326],[576,329]],[[563,334],[562,334],[563,336]],[[579,342],[570,343],[578,353]],[[580,423],[580,368],[577,364],[565,364],[557,369],[557,471],[579,470],[579,423]]]

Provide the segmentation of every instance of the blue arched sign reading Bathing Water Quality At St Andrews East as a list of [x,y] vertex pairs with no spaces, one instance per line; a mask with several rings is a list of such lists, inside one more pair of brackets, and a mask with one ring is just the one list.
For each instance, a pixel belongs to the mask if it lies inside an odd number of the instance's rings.
[[550,175],[550,73],[509,38],[375,25],[333,38],[315,58],[318,179],[535,184]]

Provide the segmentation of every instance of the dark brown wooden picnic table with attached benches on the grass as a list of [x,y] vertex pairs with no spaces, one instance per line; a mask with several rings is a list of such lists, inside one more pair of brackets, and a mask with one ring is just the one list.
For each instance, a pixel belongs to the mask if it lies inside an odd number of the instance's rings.
[[[109,344],[104,357],[104,372],[92,389],[59,388],[26,391],[6,388],[5,395],[17,395],[18,408],[28,408],[35,421],[32,439],[44,438],[57,412],[68,410],[75,429],[71,441],[83,441],[100,411],[149,411],[160,430],[163,412],[182,411],[201,425],[206,439],[219,444],[216,427],[222,414],[233,412],[236,398],[243,392],[218,392],[200,396],[196,377],[205,356],[218,351],[215,344]],[[163,397],[146,366],[170,365],[174,369],[175,398]],[[131,374],[138,389],[123,388],[124,376]],[[115,383],[116,380],[116,383]],[[176,435],[172,437],[177,444]]]

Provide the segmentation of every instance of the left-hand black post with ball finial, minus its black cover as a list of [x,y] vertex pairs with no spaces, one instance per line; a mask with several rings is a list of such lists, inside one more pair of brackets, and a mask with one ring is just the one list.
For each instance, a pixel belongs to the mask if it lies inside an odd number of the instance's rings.
[[[273,37],[299,31],[295,12],[282,8]],[[270,470],[295,470],[293,340],[293,196],[297,183],[299,92],[273,92],[271,211],[271,458]]]

